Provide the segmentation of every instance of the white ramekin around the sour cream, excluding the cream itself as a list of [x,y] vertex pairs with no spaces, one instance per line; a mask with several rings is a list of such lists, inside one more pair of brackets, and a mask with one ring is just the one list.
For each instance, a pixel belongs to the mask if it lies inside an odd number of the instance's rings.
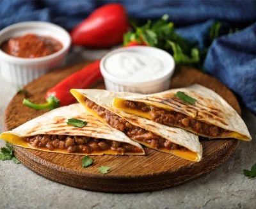
[[[119,52],[126,52],[126,51],[136,51],[136,52],[146,52],[147,54],[150,53],[153,56],[157,56],[158,58],[161,58],[164,63],[166,63],[166,66],[168,67],[167,74],[163,74],[162,77],[158,77],[157,79],[152,79],[150,81],[145,82],[134,82],[134,81],[124,81],[122,79],[119,79],[111,74],[104,68],[104,62],[106,59],[109,58],[109,56],[119,53]],[[109,91],[129,91],[134,93],[157,93],[160,91],[168,90],[170,87],[170,82],[172,77],[172,74],[174,72],[175,68],[175,61],[173,57],[168,54],[168,52],[157,49],[156,47],[147,47],[147,46],[134,46],[134,47],[124,47],[121,49],[113,50],[112,52],[109,52],[104,56],[104,58],[100,61],[100,72],[104,77],[104,82],[106,89]],[[163,69],[164,70],[164,69]]]

